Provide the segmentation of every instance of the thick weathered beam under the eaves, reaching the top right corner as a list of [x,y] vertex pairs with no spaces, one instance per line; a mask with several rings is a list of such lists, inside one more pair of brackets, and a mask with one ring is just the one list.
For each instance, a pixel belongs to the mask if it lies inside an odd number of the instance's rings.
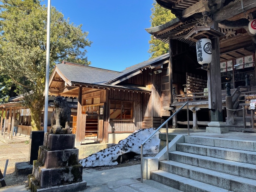
[[[241,4],[242,2],[243,2],[243,9]],[[232,16],[235,16],[239,13],[243,13],[244,11],[247,11],[254,7],[256,7],[255,0],[247,0],[247,1],[236,0],[234,2],[229,3],[226,7],[222,8],[220,11],[216,12],[215,21],[216,22],[223,21],[225,19],[231,18]]]

